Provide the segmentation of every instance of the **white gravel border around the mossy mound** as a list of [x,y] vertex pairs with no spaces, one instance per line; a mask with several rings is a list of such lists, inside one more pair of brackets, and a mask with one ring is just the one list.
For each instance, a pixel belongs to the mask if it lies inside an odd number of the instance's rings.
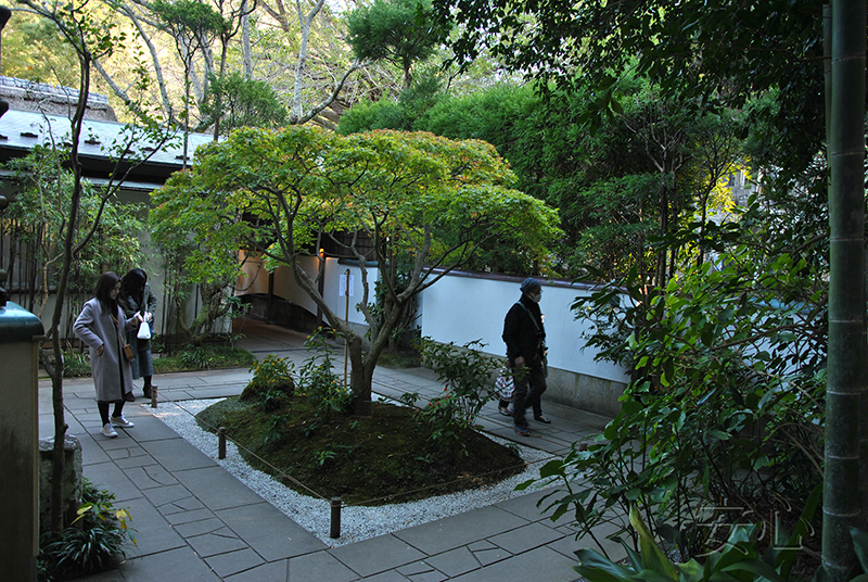
[[[251,468],[238,453],[235,445],[228,440],[226,458],[222,460],[217,458],[217,435],[200,429],[194,418],[195,414],[217,402],[219,400],[161,402],[158,408],[149,408],[149,410],[252,491],[331,546],[360,542],[524,495],[529,491],[514,491],[515,485],[528,479],[538,478],[541,461],[551,458],[550,454],[542,451],[512,443],[518,447],[522,459],[528,464],[527,469],[521,475],[506,479],[493,486],[437,495],[418,502],[379,507],[344,507],[341,510],[341,536],[332,539],[329,537],[331,509],[328,501],[296,493],[271,476]],[[490,434],[487,436],[500,443],[510,442]]]

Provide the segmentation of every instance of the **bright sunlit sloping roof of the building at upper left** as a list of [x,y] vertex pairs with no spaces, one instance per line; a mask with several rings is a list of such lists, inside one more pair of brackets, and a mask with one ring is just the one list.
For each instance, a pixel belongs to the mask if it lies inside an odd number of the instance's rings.
[[[50,146],[52,139],[59,148],[64,143],[68,147],[71,135],[71,123],[65,116],[9,110],[0,117],[0,162],[23,157],[35,146]],[[214,136],[188,136],[188,165],[196,148],[209,141],[214,141]],[[114,160],[125,146],[129,147],[125,157],[143,160],[131,172],[129,180],[162,185],[171,173],[183,167],[183,136],[180,132],[176,132],[171,141],[161,147],[136,126],[86,119],[78,148],[85,176],[108,178],[115,172]],[[124,169],[129,166],[130,164],[126,164]]]

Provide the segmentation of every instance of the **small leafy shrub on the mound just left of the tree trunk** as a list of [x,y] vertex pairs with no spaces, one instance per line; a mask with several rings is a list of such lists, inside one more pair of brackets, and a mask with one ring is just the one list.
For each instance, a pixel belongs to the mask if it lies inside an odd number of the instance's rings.
[[305,342],[310,354],[298,370],[298,394],[314,406],[315,420],[328,421],[332,410],[347,413],[353,408],[353,390],[344,385],[332,365],[332,349],[321,330]]

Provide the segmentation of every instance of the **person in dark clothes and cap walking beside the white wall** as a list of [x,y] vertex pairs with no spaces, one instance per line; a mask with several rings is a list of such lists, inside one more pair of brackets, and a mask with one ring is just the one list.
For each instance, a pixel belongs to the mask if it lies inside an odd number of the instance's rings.
[[510,307],[503,320],[503,342],[507,344],[507,359],[515,378],[512,393],[512,418],[514,429],[522,436],[531,431],[524,418],[527,407],[534,410],[534,420],[550,423],[542,416],[539,397],[546,391],[546,329],[539,300],[542,298],[542,283],[534,278],[521,284],[522,296]]

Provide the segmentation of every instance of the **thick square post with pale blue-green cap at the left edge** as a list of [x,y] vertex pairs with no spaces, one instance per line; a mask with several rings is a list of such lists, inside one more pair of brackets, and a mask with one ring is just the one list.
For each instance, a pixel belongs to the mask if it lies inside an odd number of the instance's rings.
[[0,580],[9,582],[36,580],[37,342],[43,332],[34,314],[0,301]]

